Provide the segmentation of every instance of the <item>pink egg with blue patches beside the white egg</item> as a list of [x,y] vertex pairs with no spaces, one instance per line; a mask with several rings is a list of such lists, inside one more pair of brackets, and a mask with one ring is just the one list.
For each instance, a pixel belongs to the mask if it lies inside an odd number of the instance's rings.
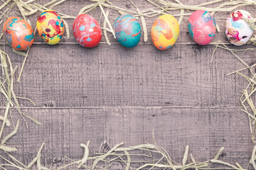
[[188,19],[188,30],[191,38],[198,45],[207,45],[216,33],[215,19],[208,11],[195,11]]

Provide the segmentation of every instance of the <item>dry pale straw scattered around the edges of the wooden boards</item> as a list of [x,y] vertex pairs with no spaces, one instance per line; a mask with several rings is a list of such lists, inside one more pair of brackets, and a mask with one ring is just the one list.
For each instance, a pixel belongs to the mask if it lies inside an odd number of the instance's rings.
[[[18,12],[28,23],[30,21],[28,20],[28,17],[33,14],[41,13],[44,10],[47,10],[49,8],[55,8],[56,6],[64,3],[66,0],[53,0],[48,2],[47,4],[38,4],[36,3],[36,0],[30,0],[30,1],[21,1],[21,0],[7,0],[4,1],[4,4],[0,6],[0,23],[5,21],[5,19],[9,16],[10,11],[16,11]],[[140,21],[142,23],[142,30],[144,34],[144,42],[148,40],[148,33],[146,28],[146,18],[155,18],[156,16],[159,16],[161,14],[169,14],[172,13],[172,11],[180,11],[179,14],[176,14],[174,16],[179,16],[178,23],[182,23],[184,16],[189,16],[191,13],[195,10],[206,10],[210,11],[213,14],[216,12],[230,12],[233,11],[235,8],[238,8],[240,6],[255,6],[255,1],[251,0],[233,0],[233,1],[224,1],[224,0],[215,0],[215,1],[209,1],[203,4],[198,4],[196,6],[189,6],[186,4],[182,4],[178,0],[174,1],[164,1],[164,0],[145,0],[148,4],[151,4],[151,8],[138,8],[134,1],[131,1],[131,3],[135,6],[134,10],[129,10],[127,8],[122,8],[120,6],[115,5],[109,0],[93,0],[91,4],[84,6],[80,9],[78,12],[79,14],[82,13],[88,13],[92,10],[95,10],[95,8],[100,8],[100,11],[102,12],[104,16],[104,23],[103,23],[103,33],[105,36],[105,40],[107,41],[108,45],[111,45],[111,42],[109,40],[108,33],[111,33],[114,38],[114,30],[112,28],[109,14],[110,11],[117,11],[120,14],[124,13],[130,13],[133,16],[136,16],[140,18]],[[212,7],[209,7],[212,6]],[[3,10],[4,9],[4,10]],[[105,12],[105,9],[107,9],[107,12]],[[66,19],[74,19],[76,16],[69,16],[64,13],[60,13],[60,16],[64,19],[65,23],[65,31],[66,31],[66,37],[70,38],[70,30],[68,29],[68,22],[65,21]],[[248,23],[250,23],[250,26],[255,29],[255,26],[253,23],[255,20],[247,20]],[[36,31],[35,31],[36,33]],[[1,32],[0,40],[4,41],[3,33]],[[256,37],[253,36],[250,39],[250,42],[252,44],[256,45]],[[5,45],[5,44],[4,44]],[[3,46],[4,46],[3,45]],[[245,77],[245,79],[248,81],[248,85],[245,88],[244,91],[242,91],[242,96],[240,98],[241,105],[242,105],[242,111],[248,115],[248,118],[250,120],[250,130],[252,132],[252,141],[255,142],[255,133],[256,133],[256,109],[255,105],[252,102],[252,96],[255,94],[256,91],[256,74],[253,72],[252,68],[256,66],[256,64],[249,66],[246,62],[240,59],[238,56],[238,53],[245,52],[247,50],[255,50],[254,48],[246,49],[246,50],[233,50],[228,48],[225,44],[222,42],[217,42],[215,45],[215,50],[217,48],[222,48],[224,50],[229,50],[235,57],[240,60],[243,64],[245,64],[245,68],[239,69],[235,72],[232,72],[230,74],[238,73],[242,75],[242,77]],[[17,67],[13,67],[11,64],[11,59],[9,55],[2,49],[5,49],[5,47],[1,47],[0,49],[0,57],[1,57],[1,76],[0,76],[0,93],[6,98],[6,101],[4,101],[5,111],[4,115],[0,115],[0,120],[2,122],[1,129],[0,129],[0,139],[3,137],[5,128],[14,128],[14,130],[4,137],[4,139],[1,140],[0,149],[4,152],[7,152],[9,159],[6,159],[5,157],[1,156],[0,158],[3,159],[6,163],[0,164],[0,168],[2,169],[9,169],[16,168],[16,169],[30,169],[33,166],[36,166],[37,169],[48,169],[41,165],[41,156],[43,151],[44,143],[41,145],[40,149],[38,149],[38,153],[36,154],[36,157],[29,163],[27,166],[25,163],[22,163],[18,161],[14,156],[9,154],[9,152],[15,152],[16,148],[6,146],[5,143],[8,142],[8,140],[11,139],[13,135],[15,135],[18,132],[18,126],[19,122],[17,121],[16,125],[14,125],[14,120],[11,116],[11,108],[16,108],[18,113],[21,115],[21,118],[25,120],[28,118],[32,120],[33,122],[37,123],[38,125],[41,125],[38,120],[35,120],[31,118],[31,116],[24,114],[21,111],[21,106],[18,103],[18,98],[23,100],[31,101],[29,98],[23,98],[16,96],[14,93],[14,74],[16,73]],[[215,52],[214,50],[214,52]],[[18,81],[21,79],[22,71],[26,64],[26,59],[28,57],[29,49],[27,52],[20,52],[13,50],[18,55],[21,55],[24,57],[23,64],[20,69],[20,73],[18,75]],[[213,52],[213,55],[214,55]],[[212,56],[213,56],[212,55]],[[242,74],[242,71],[249,69],[250,75]],[[33,105],[33,101],[31,101]],[[10,121],[10,120],[11,121]],[[11,126],[12,125],[12,126]],[[26,123],[27,125],[27,123]],[[28,125],[27,125],[28,126]],[[154,133],[153,133],[153,139],[154,139]],[[155,140],[154,140],[155,141]],[[183,154],[183,159],[181,163],[174,162],[174,160],[170,157],[169,153],[166,152],[164,148],[158,147],[156,145],[156,142],[153,144],[142,144],[142,145],[136,145],[133,147],[121,147],[123,145],[123,142],[120,144],[115,145],[110,149],[107,153],[102,154],[92,154],[90,156],[89,152],[89,143],[87,142],[86,145],[81,144],[80,146],[84,149],[84,155],[82,159],[75,161],[73,159],[69,159],[68,157],[65,157],[65,159],[68,159],[67,162],[65,162],[65,165],[61,166],[58,169],[108,169],[113,165],[113,162],[120,162],[125,165],[125,169],[154,169],[154,168],[161,168],[161,169],[213,169],[210,168],[212,164],[220,164],[220,167],[217,169],[240,169],[242,170],[242,166],[240,164],[235,163],[229,164],[228,162],[223,162],[218,160],[220,157],[220,154],[222,154],[224,147],[221,147],[219,152],[215,155],[215,157],[211,160],[207,160],[206,162],[196,162],[196,159],[193,157],[191,153],[189,153],[188,146],[186,146]],[[134,153],[135,152],[135,153]],[[252,157],[250,164],[256,169],[255,165],[255,152],[256,147],[252,151]],[[135,160],[134,161],[134,157]],[[137,157],[141,157],[143,161],[138,161],[139,159]],[[103,167],[103,165],[105,165]],[[6,167],[6,168],[5,168]]]

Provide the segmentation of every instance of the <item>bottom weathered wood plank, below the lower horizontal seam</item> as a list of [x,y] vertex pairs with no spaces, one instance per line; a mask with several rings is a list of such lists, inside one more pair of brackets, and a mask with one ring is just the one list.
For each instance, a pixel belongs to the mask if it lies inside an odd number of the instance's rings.
[[[2,111],[2,110],[1,110]],[[102,152],[103,142],[113,147],[156,142],[171,157],[181,162],[186,145],[197,161],[213,158],[220,147],[225,147],[221,160],[247,166],[252,152],[247,115],[238,108],[28,108],[25,113],[43,125],[24,123],[8,144],[17,147],[16,158],[31,161],[36,149],[46,142],[42,163],[52,168],[63,164],[67,155],[82,157],[80,143],[90,140],[90,153]],[[14,114],[14,120],[20,119]],[[24,157],[26,155],[26,157]],[[56,160],[59,162],[56,163]]]

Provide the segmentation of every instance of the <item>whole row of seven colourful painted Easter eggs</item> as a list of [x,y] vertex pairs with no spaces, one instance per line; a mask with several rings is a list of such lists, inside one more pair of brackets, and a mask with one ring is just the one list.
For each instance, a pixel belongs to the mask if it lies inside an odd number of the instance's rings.
[[[253,30],[245,21],[251,19],[247,11],[235,11],[228,16],[225,34],[234,45],[245,44],[252,36]],[[40,37],[49,45],[57,44],[64,33],[64,23],[60,15],[53,10],[43,11],[36,22]],[[216,23],[208,11],[198,10],[188,19],[191,38],[199,45],[207,45],[215,37]],[[122,15],[114,21],[117,40],[124,47],[135,47],[141,38],[142,28],[134,16]],[[75,39],[84,47],[95,47],[102,38],[100,24],[87,14],[79,15],[73,24]],[[167,50],[176,42],[179,26],[176,18],[163,15],[154,21],[151,38],[159,50]],[[19,17],[11,17],[4,23],[6,41],[16,50],[28,50],[33,44],[34,33],[31,26]]]

